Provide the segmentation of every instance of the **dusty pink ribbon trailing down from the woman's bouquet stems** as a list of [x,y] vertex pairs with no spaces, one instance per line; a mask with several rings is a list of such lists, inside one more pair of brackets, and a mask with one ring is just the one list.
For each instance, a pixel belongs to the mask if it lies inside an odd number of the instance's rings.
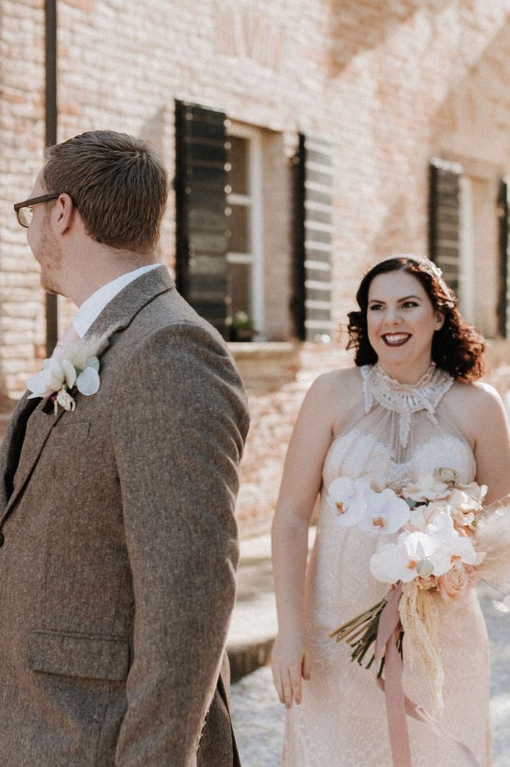
[[451,743],[466,758],[472,767],[482,767],[472,750],[465,743],[454,738],[443,725],[430,716],[423,706],[416,706],[403,691],[402,659],[396,647],[400,636],[399,602],[402,596],[402,584],[393,588],[387,595],[387,604],[379,619],[375,647],[377,666],[384,657],[384,680],[377,684],[383,690],[386,699],[388,732],[390,733],[391,754],[394,767],[412,767],[409,732],[407,732],[406,714],[423,723],[440,738]]

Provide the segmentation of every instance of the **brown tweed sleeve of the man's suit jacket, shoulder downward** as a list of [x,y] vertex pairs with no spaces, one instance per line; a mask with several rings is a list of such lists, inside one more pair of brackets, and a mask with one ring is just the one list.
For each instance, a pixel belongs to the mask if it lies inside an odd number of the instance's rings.
[[135,621],[116,765],[192,767],[235,598],[245,394],[191,323],[155,331],[123,379],[112,430]]

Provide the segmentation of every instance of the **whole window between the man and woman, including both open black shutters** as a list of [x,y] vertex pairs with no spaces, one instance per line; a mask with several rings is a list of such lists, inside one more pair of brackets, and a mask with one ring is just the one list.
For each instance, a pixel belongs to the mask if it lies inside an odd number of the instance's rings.
[[300,135],[289,166],[284,133],[179,100],[175,116],[179,292],[230,340],[239,312],[256,340],[329,339],[329,143]]

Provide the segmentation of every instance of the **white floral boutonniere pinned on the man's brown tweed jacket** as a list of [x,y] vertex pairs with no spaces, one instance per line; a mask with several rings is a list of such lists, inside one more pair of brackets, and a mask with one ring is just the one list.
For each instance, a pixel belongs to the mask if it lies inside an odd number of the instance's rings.
[[32,392],[28,400],[47,397],[44,413],[51,413],[53,403],[56,414],[59,405],[68,412],[75,410],[74,397],[78,392],[85,397],[97,393],[100,387],[97,353],[111,332],[82,338],[69,344],[60,357],[44,360],[42,370],[27,381],[27,388]]

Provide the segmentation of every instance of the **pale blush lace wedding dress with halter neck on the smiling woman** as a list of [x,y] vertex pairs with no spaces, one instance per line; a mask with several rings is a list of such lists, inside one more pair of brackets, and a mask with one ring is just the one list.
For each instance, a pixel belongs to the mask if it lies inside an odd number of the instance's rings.
[[[400,489],[441,466],[475,478],[475,459],[451,417],[453,379],[431,367],[416,386],[399,384],[378,364],[360,369],[364,406],[351,413],[324,462],[318,535],[307,571],[308,654],[311,680],[301,706],[287,713],[285,767],[392,767],[384,694],[374,669],[350,660],[350,648],[328,632],[371,607],[387,588],[368,563],[376,541],[359,528],[341,527],[325,489],[338,476],[363,477],[373,489]],[[453,387],[453,388],[452,388]],[[475,591],[459,601],[434,597],[445,673],[441,721],[490,765],[489,642]],[[404,638],[403,686],[431,711],[426,684],[410,667]],[[407,718],[413,767],[462,767],[462,755],[429,729]]]

